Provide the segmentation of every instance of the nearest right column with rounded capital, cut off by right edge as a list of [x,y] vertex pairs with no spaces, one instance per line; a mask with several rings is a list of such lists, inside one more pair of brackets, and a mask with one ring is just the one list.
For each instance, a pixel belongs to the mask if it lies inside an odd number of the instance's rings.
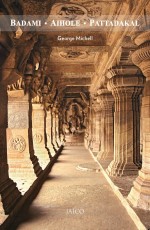
[[150,210],[150,31],[145,31],[135,38],[139,46],[132,55],[132,61],[146,76],[142,98],[143,120],[143,157],[142,169],[139,171],[128,200],[135,207]]

